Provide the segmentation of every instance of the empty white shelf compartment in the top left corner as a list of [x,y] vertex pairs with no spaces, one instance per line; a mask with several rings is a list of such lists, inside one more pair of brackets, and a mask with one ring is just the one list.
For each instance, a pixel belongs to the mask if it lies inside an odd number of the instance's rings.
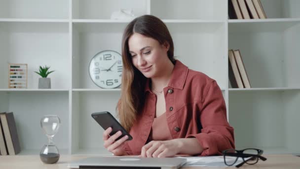
[[0,18],[69,18],[69,0],[1,0]]

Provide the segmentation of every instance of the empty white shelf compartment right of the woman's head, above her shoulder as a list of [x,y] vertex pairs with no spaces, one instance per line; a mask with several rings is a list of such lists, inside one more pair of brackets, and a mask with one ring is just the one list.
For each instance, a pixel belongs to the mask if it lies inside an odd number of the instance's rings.
[[[224,23],[166,23],[174,42],[175,58],[189,69],[203,72],[226,87]],[[216,50],[218,48],[218,50]],[[217,70],[218,68],[218,70]],[[224,74],[223,74],[224,73]]]

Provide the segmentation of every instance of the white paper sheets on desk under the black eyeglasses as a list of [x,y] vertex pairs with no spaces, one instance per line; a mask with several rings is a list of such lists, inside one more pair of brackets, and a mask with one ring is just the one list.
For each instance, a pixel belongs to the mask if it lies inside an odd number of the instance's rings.
[[[223,156],[207,156],[207,157],[177,157],[187,159],[184,166],[197,166],[197,167],[226,167]],[[235,161],[232,157],[232,161]],[[243,162],[242,158],[238,158],[236,164]]]

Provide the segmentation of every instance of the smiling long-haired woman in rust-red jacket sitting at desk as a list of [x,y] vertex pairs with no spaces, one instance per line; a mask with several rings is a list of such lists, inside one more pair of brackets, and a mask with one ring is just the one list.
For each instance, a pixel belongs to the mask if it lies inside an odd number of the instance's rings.
[[126,27],[117,111],[133,140],[115,141],[121,132],[109,136],[112,128],[105,130],[104,146],[114,155],[208,156],[234,148],[217,82],[188,69],[173,53],[173,40],[160,19],[144,15]]

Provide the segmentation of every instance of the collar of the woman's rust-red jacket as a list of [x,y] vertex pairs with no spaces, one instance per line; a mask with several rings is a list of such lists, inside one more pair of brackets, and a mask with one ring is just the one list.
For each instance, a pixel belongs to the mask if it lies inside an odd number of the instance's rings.
[[[187,76],[188,76],[188,67],[184,65],[181,61],[176,60],[168,86],[182,90],[186,83]],[[146,81],[145,92],[146,91],[151,91],[149,78],[147,78]]]

